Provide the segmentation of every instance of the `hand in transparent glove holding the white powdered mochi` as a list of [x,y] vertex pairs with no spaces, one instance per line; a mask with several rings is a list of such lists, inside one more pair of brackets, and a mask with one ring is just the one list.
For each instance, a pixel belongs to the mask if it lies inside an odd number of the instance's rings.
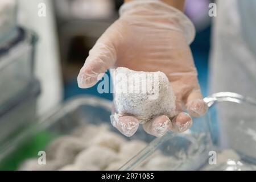
[[[95,85],[99,75],[113,67],[162,71],[174,89],[177,114],[174,118],[159,115],[145,123],[144,130],[156,137],[168,130],[178,133],[187,130],[192,125],[190,115],[200,117],[208,109],[189,48],[195,37],[193,24],[179,10],[160,1],[131,1],[121,7],[119,14],[120,18],[90,50],[77,78],[79,87]],[[133,115],[114,119],[114,127],[127,137],[138,129],[138,119]],[[164,125],[166,122],[168,125]]]

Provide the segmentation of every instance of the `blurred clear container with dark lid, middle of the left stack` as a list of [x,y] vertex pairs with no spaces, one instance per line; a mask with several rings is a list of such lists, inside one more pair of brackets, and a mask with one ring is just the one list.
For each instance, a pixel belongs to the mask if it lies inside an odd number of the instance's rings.
[[0,49],[0,106],[31,83],[36,35],[19,28],[19,36]]

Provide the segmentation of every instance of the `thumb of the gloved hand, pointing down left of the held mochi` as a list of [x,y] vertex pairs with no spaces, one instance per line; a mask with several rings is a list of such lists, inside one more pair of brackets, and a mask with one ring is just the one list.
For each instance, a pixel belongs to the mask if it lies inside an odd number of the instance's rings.
[[101,80],[103,74],[117,59],[115,48],[110,42],[97,42],[89,51],[84,66],[80,69],[77,83],[80,88],[90,88]]

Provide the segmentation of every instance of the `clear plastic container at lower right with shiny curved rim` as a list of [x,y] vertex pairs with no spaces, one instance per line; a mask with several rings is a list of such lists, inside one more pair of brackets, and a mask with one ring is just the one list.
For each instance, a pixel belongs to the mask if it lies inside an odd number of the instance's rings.
[[[121,170],[141,167],[158,150],[169,159],[155,170],[256,170],[256,100],[221,92],[204,98],[204,101],[209,110],[200,118],[201,122],[195,119],[192,133],[168,133],[153,140]],[[207,130],[203,127],[199,131],[195,126],[205,123],[209,123],[214,145],[207,144],[209,140],[204,134]],[[220,133],[217,127],[220,127]],[[198,134],[205,135],[205,139],[193,137]]]

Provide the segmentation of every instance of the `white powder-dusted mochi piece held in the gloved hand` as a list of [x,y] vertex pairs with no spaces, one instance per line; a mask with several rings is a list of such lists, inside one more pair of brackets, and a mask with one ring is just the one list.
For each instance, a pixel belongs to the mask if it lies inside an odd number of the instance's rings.
[[163,72],[117,68],[113,81],[116,112],[114,117],[134,115],[141,123],[163,114],[174,117],[175,94]]

